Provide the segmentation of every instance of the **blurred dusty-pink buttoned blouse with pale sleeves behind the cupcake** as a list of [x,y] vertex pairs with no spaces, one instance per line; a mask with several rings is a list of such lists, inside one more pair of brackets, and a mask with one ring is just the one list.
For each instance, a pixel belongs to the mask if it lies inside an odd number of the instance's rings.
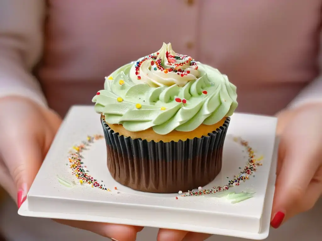
[[91,104],[105,76],[163,42],[227,74],[239,112],[274,114],[319,73],[321,0],[5,2],[0,94],[45,96],[62,115]]

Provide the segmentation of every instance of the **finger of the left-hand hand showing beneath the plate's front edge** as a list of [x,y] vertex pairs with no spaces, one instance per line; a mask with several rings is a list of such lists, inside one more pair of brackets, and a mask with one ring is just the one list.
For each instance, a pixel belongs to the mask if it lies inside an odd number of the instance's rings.
[[137,238],[137,232],[143,229],[143,227],[110,223],[85,222],[63,219],[55,221],[74,228],[85,229],[103,237],[113,238],[118,241],[135,241]]

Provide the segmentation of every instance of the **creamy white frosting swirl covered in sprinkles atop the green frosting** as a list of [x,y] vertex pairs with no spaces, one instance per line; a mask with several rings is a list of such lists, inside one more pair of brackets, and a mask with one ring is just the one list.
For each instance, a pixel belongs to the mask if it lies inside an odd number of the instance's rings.
[[140,58],[130,70],[130,78],[134,83],[144,82],[151,87],[183,87],[199,75],[197,62],[187,55],[175,53],[171,43],[163,43],[156,53]]

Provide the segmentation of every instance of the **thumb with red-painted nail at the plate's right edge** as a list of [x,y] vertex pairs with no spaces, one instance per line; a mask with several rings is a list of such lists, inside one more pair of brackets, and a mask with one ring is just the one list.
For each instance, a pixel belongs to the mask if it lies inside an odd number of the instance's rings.
[[275,195],[272,209],[271,226],[278,228],[294,210],[297,203],[308,189],[319,163],[317,147],[311,141],[300,140],[288,136],[281,138],[280,150],[284,153],[279,160],[280,168],[277,174]]

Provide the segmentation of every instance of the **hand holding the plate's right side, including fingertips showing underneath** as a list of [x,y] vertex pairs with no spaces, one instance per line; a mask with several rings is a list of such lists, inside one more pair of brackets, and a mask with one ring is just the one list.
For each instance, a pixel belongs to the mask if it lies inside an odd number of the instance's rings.
[[[278,115],[280,136],[271,226],[310,210],[322,195],[322,103]],[[158,241],[204,241],[211,235],[160,229]]]

